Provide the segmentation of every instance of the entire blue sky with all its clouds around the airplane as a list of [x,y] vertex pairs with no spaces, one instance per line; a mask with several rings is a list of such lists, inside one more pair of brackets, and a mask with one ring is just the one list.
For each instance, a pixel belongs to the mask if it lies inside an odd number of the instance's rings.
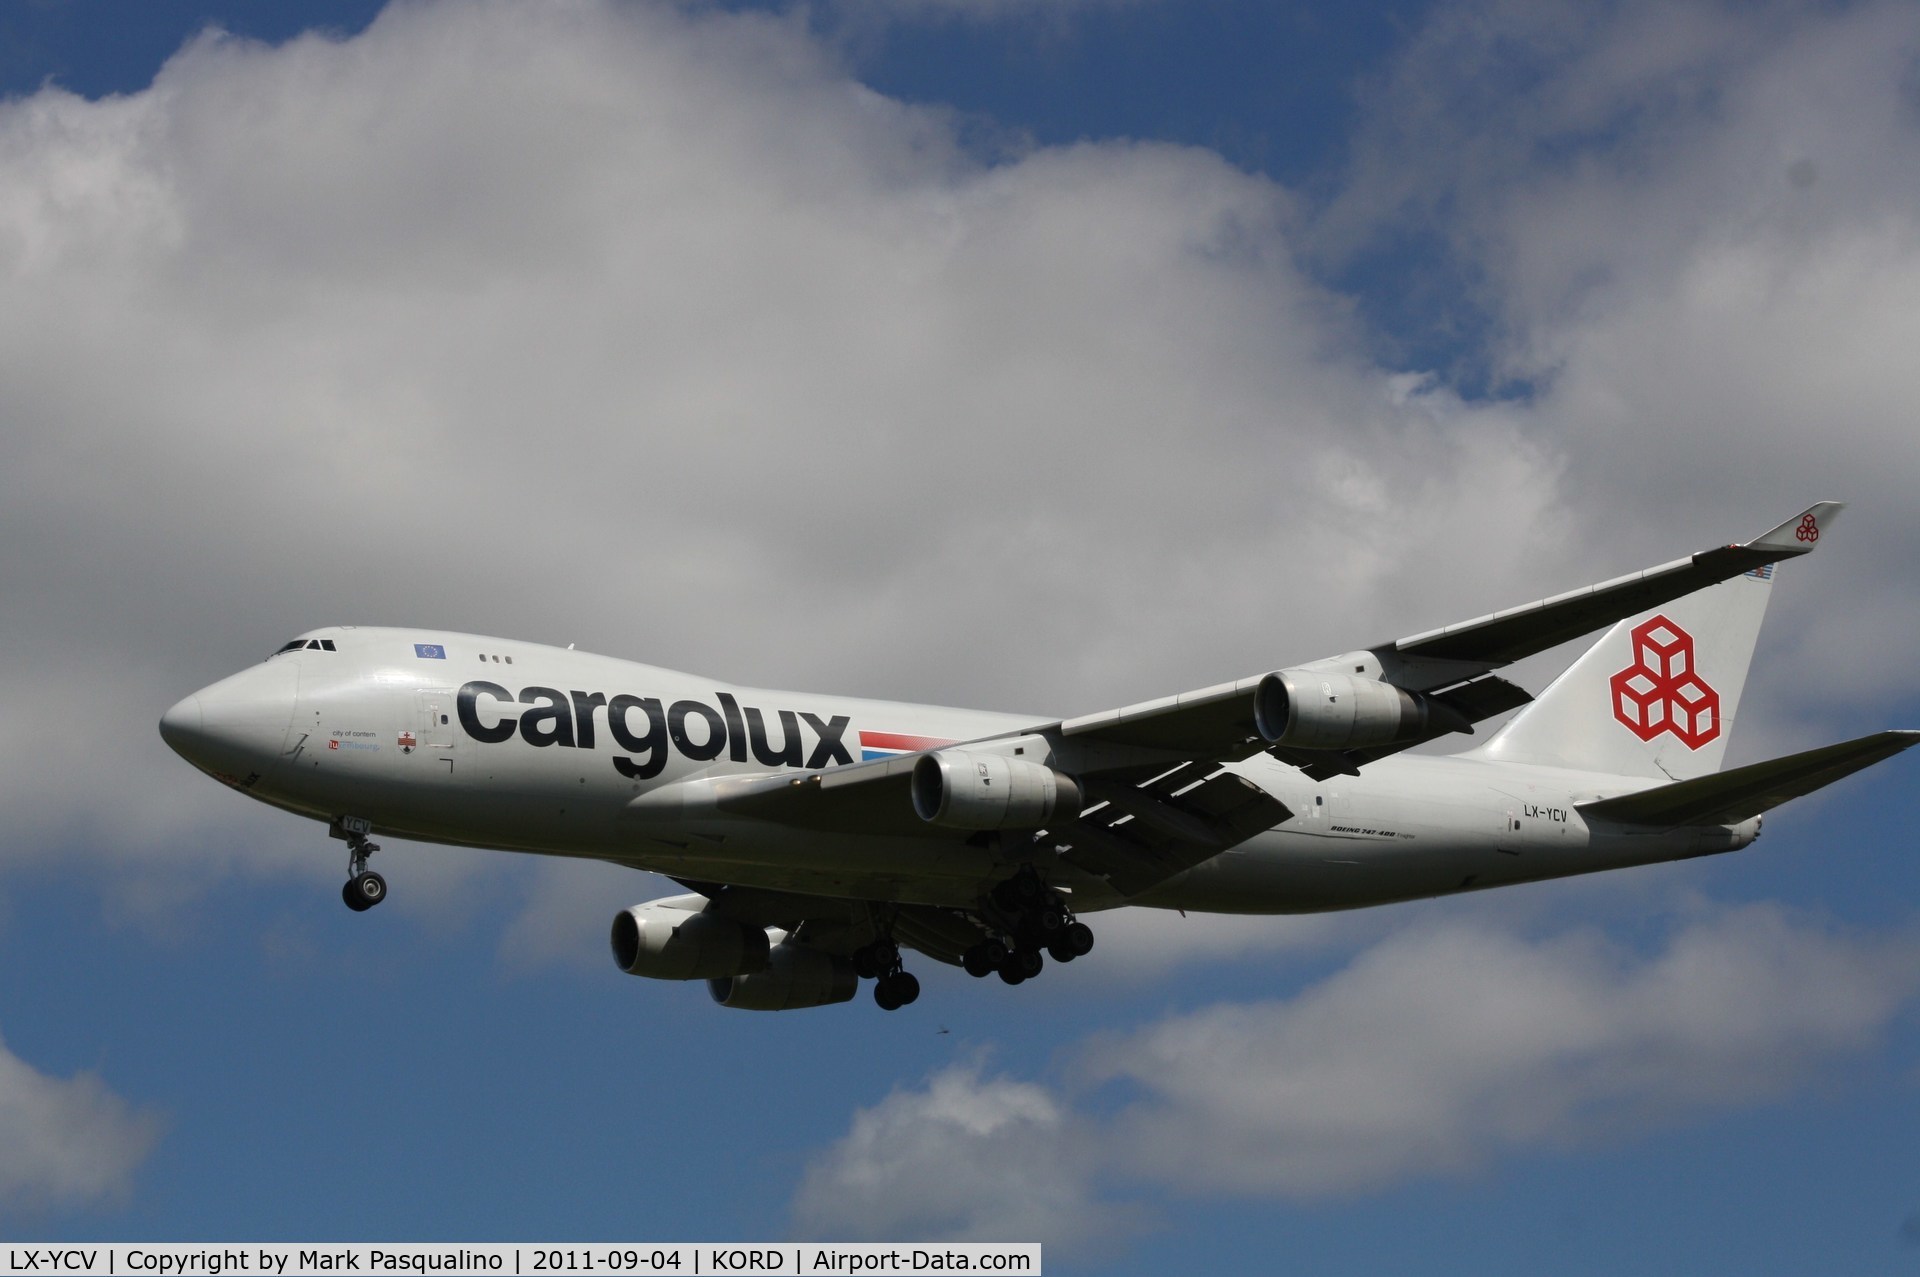
[[1910,760],[766,1016],[154,730],[342,622],[1092,712],[1816,499],[1728,762],[1920,726],[1920,10],[1354,8],[6,6],[0,1235],[1912,1271]]

